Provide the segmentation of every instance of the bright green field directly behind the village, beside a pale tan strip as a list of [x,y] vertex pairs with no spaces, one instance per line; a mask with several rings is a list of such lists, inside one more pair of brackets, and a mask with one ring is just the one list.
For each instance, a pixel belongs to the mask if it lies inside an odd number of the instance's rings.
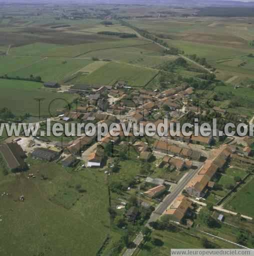
[[124,80],[132,86],[144,86],[157,72],[145,67],[109,62],[88,75],[77,76],[71,83],[112,85],[117,80]]

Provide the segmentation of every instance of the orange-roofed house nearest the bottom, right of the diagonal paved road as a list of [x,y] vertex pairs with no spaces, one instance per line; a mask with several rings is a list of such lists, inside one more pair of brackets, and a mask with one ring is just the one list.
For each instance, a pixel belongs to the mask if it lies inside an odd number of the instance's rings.
[[184,195],[179,195],[164,211],[164,214],[170,215],[171,220],[180,222],[190,207],[191,201]]

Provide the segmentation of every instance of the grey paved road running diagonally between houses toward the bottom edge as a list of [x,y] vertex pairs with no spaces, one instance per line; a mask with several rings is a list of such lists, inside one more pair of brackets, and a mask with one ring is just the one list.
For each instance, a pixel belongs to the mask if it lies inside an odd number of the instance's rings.
[[[149,226],[148,223],[152,221],[156,221],[160,215],[166,210],[166,208],[173,202],[173,200],[181,193],[181,191],[184,189],[184,187],[187,185],[187,183],[190,181],[190,179],[199,172],[199,170],[203,167],[203,164],[200,168],[197,168],[195,170],[191,170],[187,175],[184,176],[182,180],[179,181],[177,186],[173,189],[173,191],[168,194],[164,200],[156,207],[154,212],[152,212],[149,220],[147,221],[146,226]],[[143,240],[143,235],[142,233],[138,233],[136,238],[133,240],[133,242],[138,246],[140,242]],[[126,249],[125,252],[123,253],[123,256],[131,256],[134,251],[136,250],[135,248],[129,248]]]

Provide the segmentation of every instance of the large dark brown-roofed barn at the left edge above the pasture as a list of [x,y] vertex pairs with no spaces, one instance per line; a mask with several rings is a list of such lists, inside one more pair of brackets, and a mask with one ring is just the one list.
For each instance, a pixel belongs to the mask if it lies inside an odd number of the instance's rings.
[[0,152],[11,170],[19,171],[27,169],[27,165],[24,162],[26,155],[21,146],[17,143],[1,144]]

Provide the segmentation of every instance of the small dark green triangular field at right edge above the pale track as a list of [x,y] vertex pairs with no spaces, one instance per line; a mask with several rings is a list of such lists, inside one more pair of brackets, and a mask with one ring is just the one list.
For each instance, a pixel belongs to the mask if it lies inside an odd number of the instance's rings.
[[224,206],[228,210],[240,212],[242,214],[254,217],[253,209],[253,190],[254,179],[250,177],[245,184],[238,189],[236,194]]

